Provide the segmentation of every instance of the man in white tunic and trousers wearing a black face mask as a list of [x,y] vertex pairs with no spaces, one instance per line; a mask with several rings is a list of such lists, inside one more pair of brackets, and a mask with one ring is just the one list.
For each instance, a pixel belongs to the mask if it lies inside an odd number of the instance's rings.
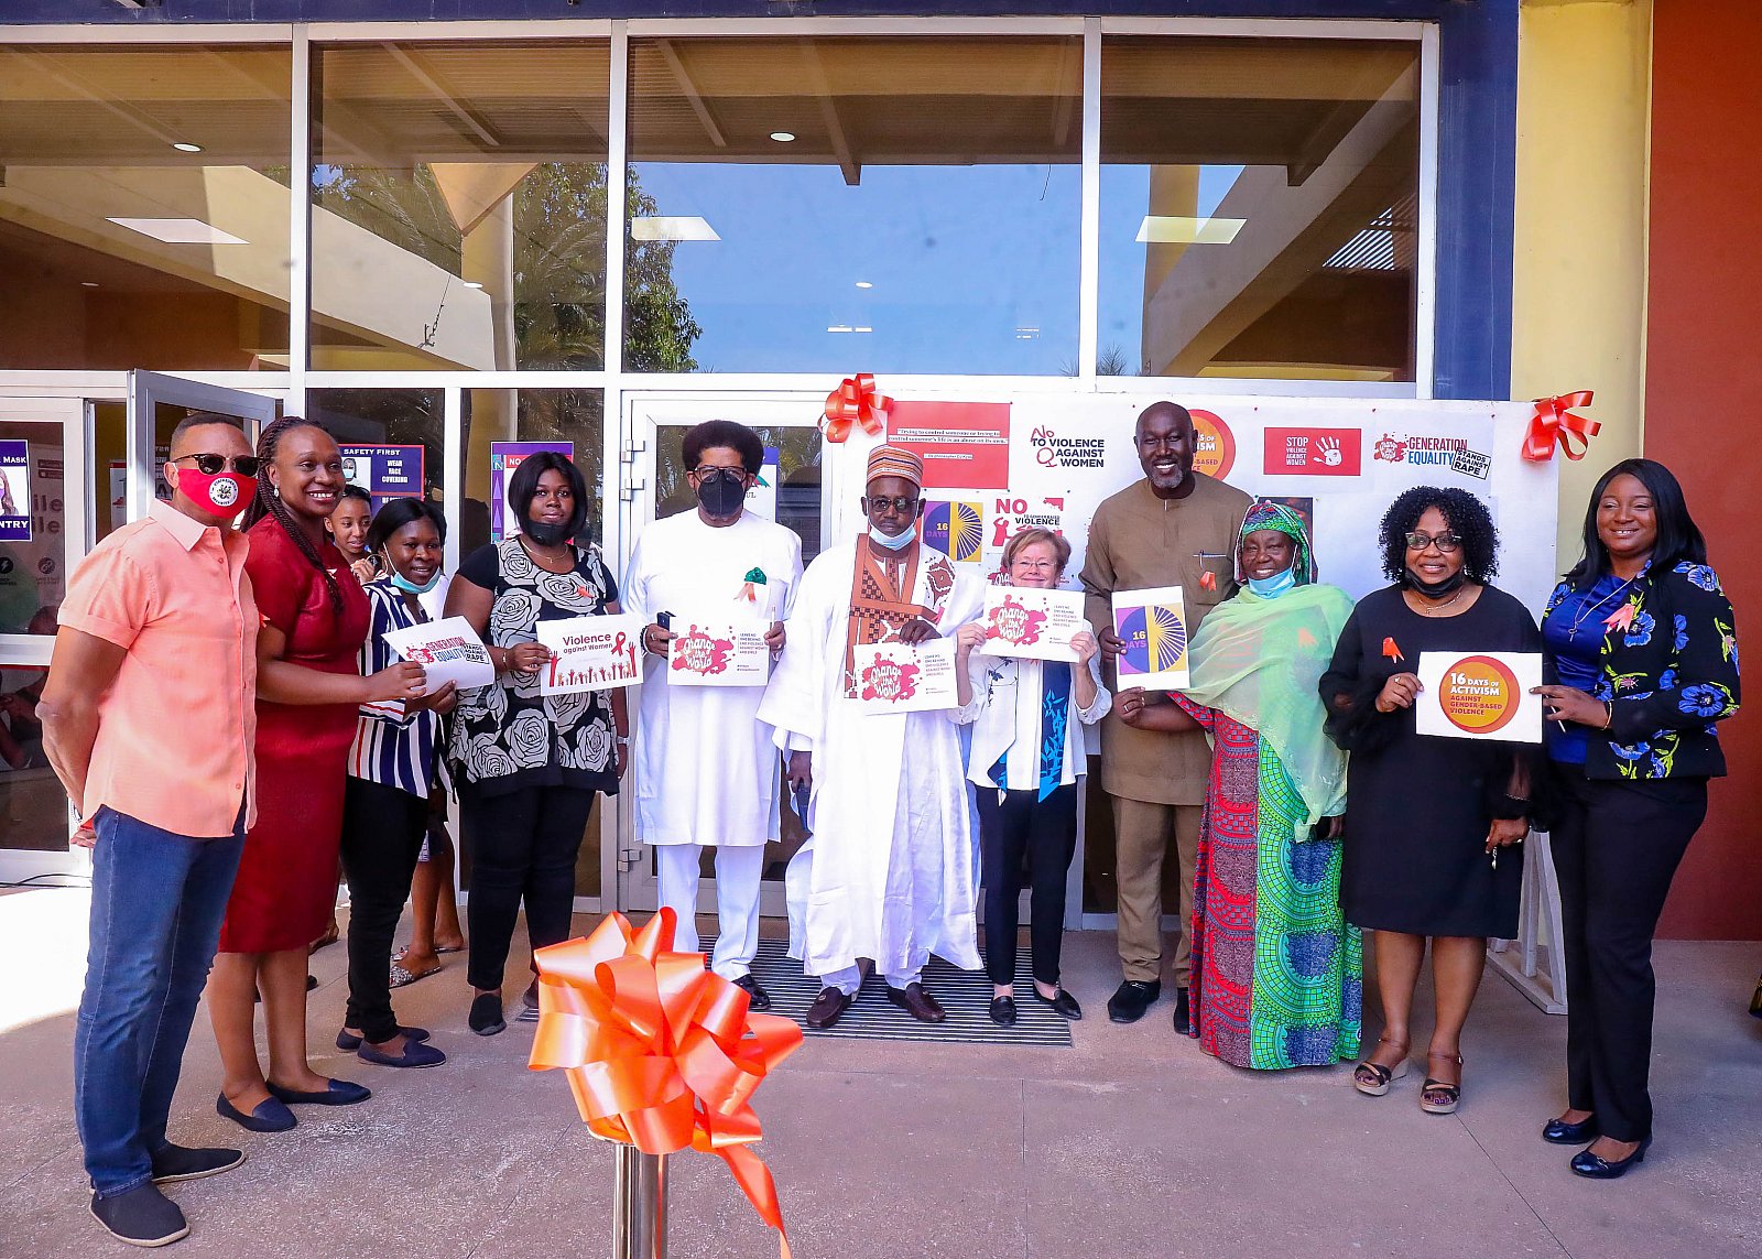
[[[765,686],[685,686],[670,681],[668,644],[692,617],[763,621],[772,652],[802,580],[802,540],[745,510],[765,444],[745,425],[701,423],[685,434],[685,481],[694,511],[643,529],[624,573],[624,607],[650,624],[650,652],[636,723],[636,834],[655,848],[661,905],[678,913],[675,947],[698,947],[698,869],[715,850],[719,935],[710,968],[747,991],[754,1010],[770,995],[752,979],[759,947],[765,843],[777,839],[777,748],[758,719]],[[657,622],[666,614],[673,630]]]

